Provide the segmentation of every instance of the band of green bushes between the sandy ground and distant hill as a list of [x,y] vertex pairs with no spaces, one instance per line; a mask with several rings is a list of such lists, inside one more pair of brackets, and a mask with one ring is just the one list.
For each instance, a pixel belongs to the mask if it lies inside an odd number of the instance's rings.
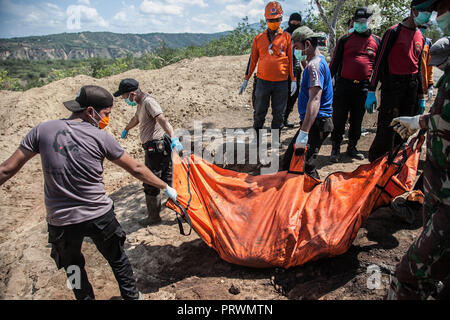
[[196,57],[246,54],[250,53],[253,38],[261,32],[260,29],[252,28],[245,18],[234,31],[204,45],[171,48],[161,42],[159,47],[138,58],[128,53],[126,57],[116,59],[4,60],[0,61],[0,90],[28,90],[81,74],[104,78],[131,69],[159,69]]

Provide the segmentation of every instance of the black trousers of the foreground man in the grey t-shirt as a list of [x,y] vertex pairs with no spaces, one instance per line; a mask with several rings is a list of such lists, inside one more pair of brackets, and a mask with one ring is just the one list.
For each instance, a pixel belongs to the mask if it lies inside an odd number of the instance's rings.
[[84,237],[91,238],[98,251],[108,261],[119,284],[122,298],[133,300],[139,297],[133,269],[123,248],[126,235],[115,217],[114,208],[91,221],[63,227],[48,225],[48,234],[48,242],[52,245],[51,257],[58,269],[66,270],[68,279],[72,280],[72,290],[77,300],[95,299],[81,253]]

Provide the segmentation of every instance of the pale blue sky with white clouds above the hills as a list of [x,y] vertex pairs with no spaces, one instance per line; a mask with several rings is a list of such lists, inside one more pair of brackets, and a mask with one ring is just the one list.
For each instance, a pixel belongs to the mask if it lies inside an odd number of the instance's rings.
[[[0,0],[0,38],[63,32],[215,33],[259,22],[267,0]],[[279,0],[288,20],[309,0]]]

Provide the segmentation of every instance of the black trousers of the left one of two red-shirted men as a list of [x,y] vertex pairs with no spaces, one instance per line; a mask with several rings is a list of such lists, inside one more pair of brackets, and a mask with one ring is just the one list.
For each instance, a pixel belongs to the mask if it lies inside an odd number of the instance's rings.
[[348,139],[356,143],[361,138],[362,121],[366,113],[365,102],[367,88],[364,85],[353,84],[351,81],[338,80],[333,100],[333,125],[331,134],[333,144],[340,145],[345,133],[345,124],[350,113],[350,129]]

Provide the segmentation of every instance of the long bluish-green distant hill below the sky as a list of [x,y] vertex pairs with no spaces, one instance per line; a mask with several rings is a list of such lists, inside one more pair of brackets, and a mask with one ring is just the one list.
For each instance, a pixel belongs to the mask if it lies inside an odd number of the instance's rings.
[[0,60],[69,60],[140,57],[164,42],[169,48],[201,46],[228,32],[118,34],[112,32],[61,33],[48,36],[0,39]]

